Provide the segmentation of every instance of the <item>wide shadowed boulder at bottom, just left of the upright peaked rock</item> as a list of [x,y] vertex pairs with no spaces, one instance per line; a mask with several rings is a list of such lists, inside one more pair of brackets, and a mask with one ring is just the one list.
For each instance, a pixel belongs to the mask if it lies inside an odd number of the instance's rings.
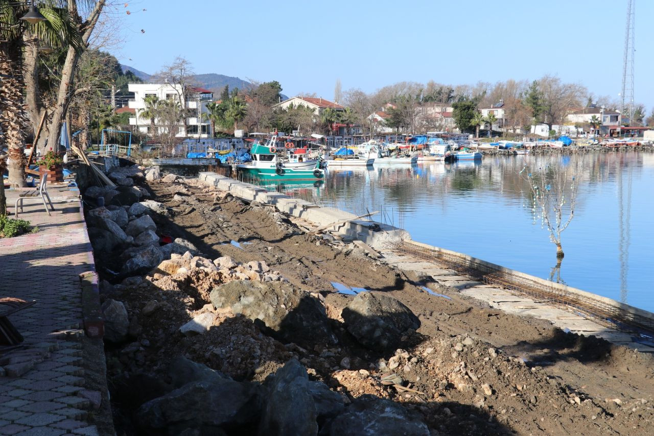
[[[175,363],[171,370],[174,366]],[[165,429],[167,434],[177,435],[184,429],[245,426],[256,422],[260,411],[258,386],[221,377],[217,371],[211,371],[199,363],[189,367],[182,362],[181,367],[184,375],[192,381],[143,404],[137,411],[137,420],[142,428]],[[175,378],[175,384],[183,380]]]

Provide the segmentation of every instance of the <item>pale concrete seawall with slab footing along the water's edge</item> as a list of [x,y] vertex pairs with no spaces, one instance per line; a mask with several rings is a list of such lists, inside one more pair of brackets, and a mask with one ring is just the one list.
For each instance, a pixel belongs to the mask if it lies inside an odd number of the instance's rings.
[[[562,310],[560,309],[560,305],[557,307],[557,305],[538,301],[537,298],[526,298],[524,295],[520,297],[511,297],[512,299],[507,301],[506,295],[510,294],[499,286],[483,284],[471,280],[467,275],[443,272],[447,267],[432,263],[425,257],[411,256],[410,254],[407,255],[406,253],[394,250],[394,247],[397,247],[399,244],[404,244],[404,246],[409,246],[409,252],[411,251],[411,247],[415,247],[416,251],[421,250],[422,252],[429,252],[434,258],[443,255],[453,256],[457,259],[466,261],[469,265],[474,265],[476,269],[510,275],[511,277],[517,278],[517,280],[528,280],[528,282],[536,284],[536,286],[548,288],[553,290],[555,293],[560,292],[565,295],[573,295],[574,298],[579,300],[592,301],[596,303],[598,307],[605,307],[608,311],[607,313],[619,311],[627,318],[640,320],[641,325],[654,326],[654,314],[647,310],[638,309],[620,303],[619,301],[579,290],[577,288],[572,288],[564,284],[551,282],[540,277],[534,277],[522,273],[521,271],[515,271],[503,267],[502,265],[496,265],[494,263],[473,258],[466,254],[412,241],[411,235],[404,229],[369,220],[357,220],[357,216],[350,212],[329,207],[319,207],[309,201],[294,199],[279,192],[268,192],[266,189],[259,186],[239,182],[233,178],[228,178],[216,173],[201,172],[199,173],[199,180],[210,186],[215,186],[219,190],[228,191],[235,197],[239,197],[246,201],[258,201],[266,205],[277,207],[281,212],[313,222],[318,227],[338,223],[335,226],[328,227],[327,230],[332,229],[333,231],[336,231],[339,236],[346,240],[362,241],[374,250],[383,254],[387,263],[396,265],[400,269],[406,271],[415,271],[417,273],[422,273],[423,275],[432,275],[437,282],[457,288],[462,294],[485,301],[492,307],[497,307],[498,309],[507,312],[544,318],[561,328],[569,329],[576,333],[584,335],[592,334],[604,337],[604,339],[608,339],[614,343],[627,344],[633,348],[638,348],[641,351],[654,352],[654,344],[652,344],[653,346],[649,346],[649,344],[643,344],[642,341],[634,343],[634,337],[632,337],[630,333],[616,331],[615,329],[608,327],[606,324],[598,324],[596,320],[591,320],[589,316],[583,316],[582,314],[578,314],[578,312],[576,315],[570,316],[570,308],[568,308],[567,311]],[[498,296],[502,295],[505,297],[498,298]],[[507,305],[506,303],[514,304]],[[519,304],[516,305],[515,303]]]

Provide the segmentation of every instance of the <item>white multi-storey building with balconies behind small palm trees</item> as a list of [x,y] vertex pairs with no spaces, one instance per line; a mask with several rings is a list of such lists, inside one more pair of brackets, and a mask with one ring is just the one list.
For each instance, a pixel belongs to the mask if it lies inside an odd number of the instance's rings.
[[[135,109],[136,114],[129,118],[129,125],[139,129],[141,133],[152,134],[152,124],[149,118],[143,118],[141,112],[145,109],[145,97],[156,95],[160,100],[172,100],[181,102],[182,107],[187,110],[186,123],[188,130],[184,131],[184,123],[177,125],[177,137],[206,138],[213,137],[211,124],[203,120],[202,114],[207,113],[207,103],[213,100],[213,92],[203,88],[188,86],[182,92],[181,85],[160,83],[160,82],[129,82],[129,92],[134,93],[134,99],[129,100],[129,108]],[[158,120],[154,120],[156,133],[162,133],[163,127]]]

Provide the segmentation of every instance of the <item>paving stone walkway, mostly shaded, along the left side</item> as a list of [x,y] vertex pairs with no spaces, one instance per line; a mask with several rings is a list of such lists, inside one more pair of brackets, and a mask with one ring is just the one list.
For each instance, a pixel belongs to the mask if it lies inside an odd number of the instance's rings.
[[[0,346],[0,435],[97,435],[88,411],[100,394],[86,389],[79,275],[94,270],[78,192],[48,188],[55,211],[25,201],[19,218],[39,226],[0,239],[0,297],[36,300],[9,316],[25,338]],[[7,191],[13,217],[18,193]]]

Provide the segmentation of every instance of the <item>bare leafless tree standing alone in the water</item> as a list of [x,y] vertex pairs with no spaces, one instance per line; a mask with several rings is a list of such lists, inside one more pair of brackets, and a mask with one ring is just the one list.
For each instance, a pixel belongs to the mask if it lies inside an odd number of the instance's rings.
[[557,267],[564,256],[561,233],[574,218],[577,200],[577,179],[572,166],[527,163],[520,171],[531,190],[532,212],[547,227],[550,241],[557,246]]

